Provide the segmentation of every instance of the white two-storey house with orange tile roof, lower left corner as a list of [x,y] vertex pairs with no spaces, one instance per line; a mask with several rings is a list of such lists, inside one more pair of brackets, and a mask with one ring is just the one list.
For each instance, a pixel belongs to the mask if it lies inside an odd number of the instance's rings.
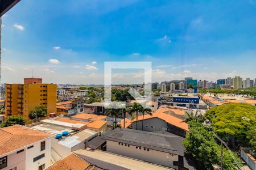
[[48,167],[52,138],[52,134],[21,125],[0,129],[0,169]]

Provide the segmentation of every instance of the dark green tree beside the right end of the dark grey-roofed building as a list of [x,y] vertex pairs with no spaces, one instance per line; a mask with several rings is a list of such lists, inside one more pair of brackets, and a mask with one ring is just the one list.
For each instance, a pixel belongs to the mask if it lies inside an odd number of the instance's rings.
[[[189,133],[183,145],[205,168],[212,169],[212,165],[220,165],[221,146],[215,142],[212,129],[204,124],[189,121]],[[226,148],[223,148],[223,153],[223,169],[236,169],[236,164]],[[233,152],[233,155],[241,162],[236,153]]]

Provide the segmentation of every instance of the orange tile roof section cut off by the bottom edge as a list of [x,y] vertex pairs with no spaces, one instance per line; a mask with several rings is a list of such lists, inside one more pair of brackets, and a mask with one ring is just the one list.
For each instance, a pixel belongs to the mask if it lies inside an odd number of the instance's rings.
[[75,154],[69,154],[65,158],[60,159],[50,167],[46,168],[46,170],[84,170],[88,167],[90,167],[90,164],[87,163],[84,159]]

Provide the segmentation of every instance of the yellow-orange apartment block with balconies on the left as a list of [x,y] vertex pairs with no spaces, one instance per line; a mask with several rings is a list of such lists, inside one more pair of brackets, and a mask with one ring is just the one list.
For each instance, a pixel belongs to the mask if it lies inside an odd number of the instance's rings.
[[28,113],[36,106],[43,105],[49,113],[56,113],[56,84],[6,84],[6,117]]

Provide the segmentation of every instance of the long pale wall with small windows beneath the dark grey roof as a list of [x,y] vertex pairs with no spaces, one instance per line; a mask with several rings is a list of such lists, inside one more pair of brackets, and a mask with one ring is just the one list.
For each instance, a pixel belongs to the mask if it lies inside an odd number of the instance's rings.
[[130,158],[135,158],[139,160],[143,160],[146,162],[151,162],[159,165],[164,165],[166,167],[176,168],[177,166],[173,165],[174,161],[178,161],[179,156],[168,154],[166,152],[160,152],[155,150],[144,150],[142,147],[141,149],[136,148],[136,146],[130,145],[130,147],[123,145],[119,145],[118,142],[107,141],[107,151],[112,152],[114,154],[128,156]]

